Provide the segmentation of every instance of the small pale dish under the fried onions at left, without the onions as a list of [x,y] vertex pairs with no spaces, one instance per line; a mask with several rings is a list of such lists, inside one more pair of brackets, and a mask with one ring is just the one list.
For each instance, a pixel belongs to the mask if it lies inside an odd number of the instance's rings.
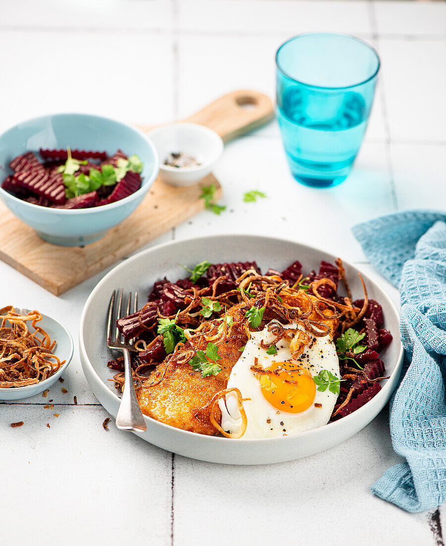
[[[61,360],[67,360],[63,366],[61,366],[57,372],[34,385],[27,385],[27,387],[13,387],[8,389],[0,389],[0,401],[21,400],[22,398],[29,398],[35,394],[43,393],[44,390],[49,389],[62,373],[67,369],[74,354],[74,342],[73,337],[64,327],[63,324],[56,321],[55,318],[49,317],[47,314],[42,313],[42,320],[38,323],[50,336],[51,341],[56,340],[57,344],[53,350],[53,354]],[[32,327],[30,326],[32,329]]]

